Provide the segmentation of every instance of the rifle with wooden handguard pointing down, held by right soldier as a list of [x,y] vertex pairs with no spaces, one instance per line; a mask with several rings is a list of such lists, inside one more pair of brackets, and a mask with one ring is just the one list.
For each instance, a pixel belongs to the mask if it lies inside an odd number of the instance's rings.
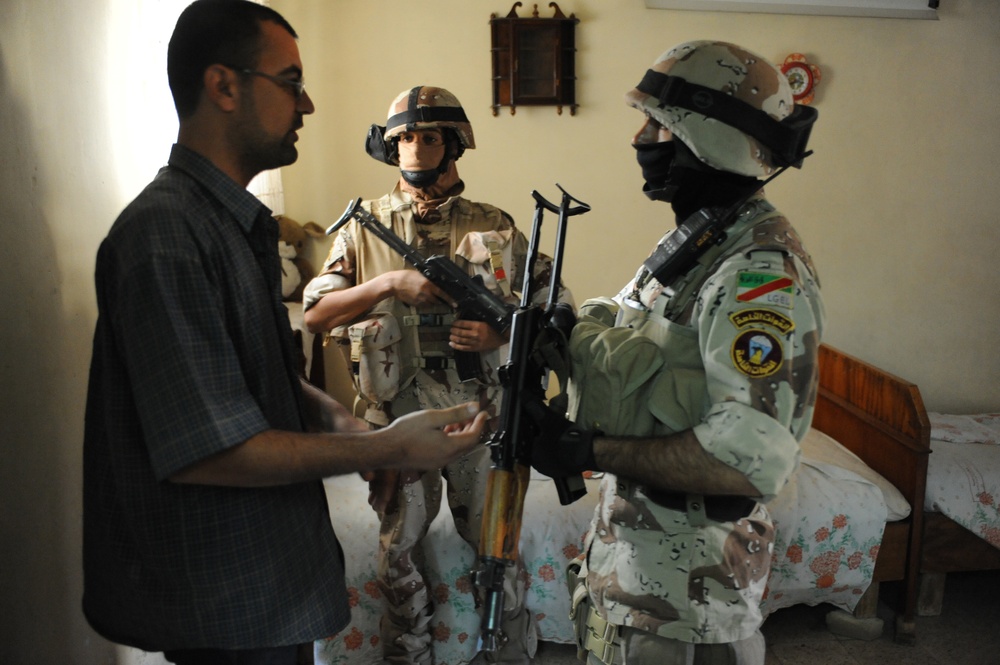
[[[521,290],[520,306],[514,312],[511,323],[507,364],[500,371],[500,379],[504,386],[500,423],[489,441],[493,463],[487,477],[486,501],[479,539],[479,569],[472,573],[475,584],[486,590],[479,646],[488,652],[497,651],[505,639],[500,634],[504,570],[517,560],[524,494],[528,488],[531,471],[530,437],[526,430],[530,421],[524,413],[523,404],[526,396],[532,392],[544,394],[544,383],[548,372],[554,369],[546,365],[539,346],[541,340],[552,332],[557,324],[553,319],[559,296],[566,220],[590,210],[590,206],[574,199],[562,187],[559,187],[559,190],[563,194],[559,206],[546,201],[537,191],[531,193],[536,206],[531,240],[528,243],[524,287]],[[571,207],[571,203],[576,205]],[[548,301],[543,310],[540,306],[531,304],[531,297],[535,292],[534,264],[538,259],[538,242],[545,210],[558,213],[559,224],[556,231]],[[559,502],[563,505],[576,501],[587,492],[583,477],[579,474],[553,480],[559,494]]]

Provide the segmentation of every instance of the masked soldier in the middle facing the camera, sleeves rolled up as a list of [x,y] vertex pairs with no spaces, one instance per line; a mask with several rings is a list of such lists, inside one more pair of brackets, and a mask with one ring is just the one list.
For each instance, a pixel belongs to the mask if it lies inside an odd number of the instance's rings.
[[[386,127],[369,132],[368,151],[398,166],[401,178],[391,193],[362,205],[425,256],[451,258],[516,304],[512,286],[522,283],[527,240],[504,211],[460,196],[465,184],[455,162],[475,141],[459,101],[442,88],[419,86],[403,91],[388,115]],[[550,268],[551,260],[541,257],[538,283],[548,284]],[[547,292],[539,289],[537,301]],[[330,331],[351,345],[361,408],[373,427],[430,404],[466,401],[479,402],[495,426],[502,393],[497,368],[506,360],[506,340],[485,323],[457,319],[446,299],[355,220],[340,231],[322,273],[307,286],[305,321],[314,332]],[[478,379],[459,379],[456,350],[480,354]],[[455,526],[478,547],[489,467],[483,446],[442,472],[401,470],[373,480],[370,501],[382,522],[378,574],[388,662],[432,662],[434,608],[420,570],[421,540],[437,515],[443,475]],[[526,663],[534,655],[526,579],[520,565],[508,569],[500,662]]]

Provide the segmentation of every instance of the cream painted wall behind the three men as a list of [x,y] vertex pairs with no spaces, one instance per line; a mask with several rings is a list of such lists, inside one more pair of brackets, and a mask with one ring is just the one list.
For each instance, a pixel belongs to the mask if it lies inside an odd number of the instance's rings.
[[[135,4],[0,0],[0,662],[12,665],[158,660],[106,643],[79,609],[94,256],[176,127],[155,62],[165,41],[122,27]],[[166,13],[183,4],[152,0]],[[556,182],[593,206],[570,231],[579,298],[616,291],[668,223],[639,192],[628,146],[639,116],[622,102],[653,59],[693,38],[777,61],[806,53],[823,69],[816,154],[769,195],[820,267],[827,340],[915,381],[932,410],[1000,408],[1000,3],[943,0],[941,20],[910,21],[564,0],[581,19],[574,117],[491,115],[488,21],[512,2],[271,4],[301,35],[318,107],[284,172],[290,216],[329,224],[349,199],[387,190],[395,173],[364,154],[366,128],[400,90],[441,85],[475,127],[479,148],[459,162],[470,197],[524,226],[531,190],[554,197]],[[172,23],[141,22],[161,35]]]

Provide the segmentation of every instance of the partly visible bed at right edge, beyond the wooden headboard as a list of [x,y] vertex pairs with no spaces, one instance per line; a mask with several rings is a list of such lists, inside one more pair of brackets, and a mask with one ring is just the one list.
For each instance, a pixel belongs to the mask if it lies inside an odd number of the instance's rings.
[[1000,569],[1000,414],[928,415],[918,614],[937,616],[948,573]]

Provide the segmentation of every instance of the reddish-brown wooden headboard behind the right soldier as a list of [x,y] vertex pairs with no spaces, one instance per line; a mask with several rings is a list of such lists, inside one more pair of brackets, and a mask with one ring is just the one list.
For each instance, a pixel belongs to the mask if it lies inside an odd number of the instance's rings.
[[910,516],[886,525],[876,582],[901,580],[897,639],[915,631],[930,421],[917,386],[823,344],[812,426],[839,441],[895,485]]

